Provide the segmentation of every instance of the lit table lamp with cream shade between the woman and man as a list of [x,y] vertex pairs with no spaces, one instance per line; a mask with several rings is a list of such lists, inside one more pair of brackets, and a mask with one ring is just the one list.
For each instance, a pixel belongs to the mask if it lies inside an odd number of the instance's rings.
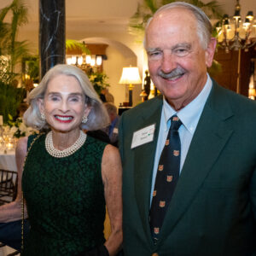
[[142,79],[137,67],[123,67],[123,73],[119,84],[129,84],[129,107],[132,107],[132,89],[134,85],[141,84]]

